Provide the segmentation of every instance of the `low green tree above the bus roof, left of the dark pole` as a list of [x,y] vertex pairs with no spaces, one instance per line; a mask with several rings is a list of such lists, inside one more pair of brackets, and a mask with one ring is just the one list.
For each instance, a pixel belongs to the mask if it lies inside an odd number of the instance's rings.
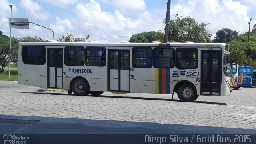
[[129,42],[152,42],[152,41],[164,41],[164,33],[160,30],[158,32],[142,32],[131,36]]

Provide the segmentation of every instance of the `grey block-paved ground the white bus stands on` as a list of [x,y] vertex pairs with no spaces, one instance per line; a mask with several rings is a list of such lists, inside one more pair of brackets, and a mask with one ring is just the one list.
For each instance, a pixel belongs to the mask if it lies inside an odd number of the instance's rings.
[[[195,102],[180,102],[176,94],[172,100],[170,95],[158,94],[104,92],[102,96],[74,96],[67,92],[37,92],[37,89],[15,82],[0,82],[0,118],[28,116],[21,118],[38,119],[45,123],[63,120],[70,120],[71,123],[87,120],[88,123],[91,120],[91,124],[101,124],[99,132],[103,133],[108,133],[104,126],[110,132],[120,133],[120,129],[111,128],[123,125],[133,128],[145,126],[133,133],[154,133],[161,127],[162,131],[158,132],[162,133],[256,134],[256,88],[240,88],[228,97],[199,96]],[[10,125],[2,126],[7,128]],[[2,132],[6,131],[2,129]]]

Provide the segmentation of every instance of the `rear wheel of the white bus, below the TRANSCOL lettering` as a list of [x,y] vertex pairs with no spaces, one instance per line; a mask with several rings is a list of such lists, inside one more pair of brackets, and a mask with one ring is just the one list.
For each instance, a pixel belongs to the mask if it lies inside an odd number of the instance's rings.
[[74,94],[78,95],[78,96],[88,96],[88,94],[90,92],[89,84],[83,78],[76,78],[72,82],[71,88],[72,88],[72,91],[74,92]]

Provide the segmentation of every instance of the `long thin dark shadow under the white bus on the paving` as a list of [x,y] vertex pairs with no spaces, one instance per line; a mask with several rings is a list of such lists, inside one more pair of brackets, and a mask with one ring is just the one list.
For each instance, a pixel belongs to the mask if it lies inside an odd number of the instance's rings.
[[[14,92],[14,93],[17,93],[17,92]],[[43,93],[42,92],[18,92],[18,93],[75,96],[74,94],[61,94],[61,93],[51,93],[51,92],[43,92]],[[165,100],[165,101],[181,102],[180,100],[172,100],[172,99],[164,99],[164,98],[144,98],[144,97],[135,97],[135,96],[107,96],[107,95],[100,95],[100,96],[88,95],[88,96],[99,97],[99,98],[130,98],[130,99],[140,99],[140,100]],[[202,104],[227,105],[226,103],[222,103],[222,102],[206,102],[206,101],[196,101],[196,100],[194,102],[202,103]]]

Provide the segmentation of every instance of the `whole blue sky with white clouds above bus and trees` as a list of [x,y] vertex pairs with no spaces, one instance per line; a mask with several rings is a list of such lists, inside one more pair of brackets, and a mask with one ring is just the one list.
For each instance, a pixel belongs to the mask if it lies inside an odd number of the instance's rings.
[[[171,0],[170,19],[190,16],[198,23],[209,23],[208,32],[222,28],[243,33],[256,24],[255,0]],[[0,30],[10,36],[8,18],[28,18],[52,29],[55,39],[74,34],[90,41],[120,42],[132,34],[163,30],[167,0],[0,0]],[[12,29],[12,36],[37,36],[53,40],[52,32],[30,24],[29,30]]]

